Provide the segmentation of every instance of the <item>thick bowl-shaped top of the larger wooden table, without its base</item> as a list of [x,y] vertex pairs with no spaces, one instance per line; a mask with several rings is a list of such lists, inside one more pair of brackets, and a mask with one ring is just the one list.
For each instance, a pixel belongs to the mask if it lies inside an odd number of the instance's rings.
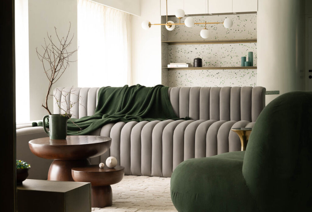
[[37,138],[29,142],[29,148],[38,157],[54,160],[80,160],[97,157],[110,148],[110,137],[74,135],[63,140],[49,137]]

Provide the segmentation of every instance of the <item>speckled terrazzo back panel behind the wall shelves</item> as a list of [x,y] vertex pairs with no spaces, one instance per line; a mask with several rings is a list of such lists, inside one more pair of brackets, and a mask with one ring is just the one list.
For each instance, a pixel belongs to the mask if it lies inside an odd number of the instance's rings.
[[[222,24],[209,24],[210,37],[202,39],[199,35],[203,25],[186,27],[176,25],[173,31],[164,31],[162,41],[202,41],[202,40],[240,40],[256,39],[256,14],[198,16],[193,17],[195,22],[223,22],[229,17],[233,20],[232,28],[226,29]],[[183,18],[185,19],[185,18]],[[182,22],[184,20],[182,19]],[[168,20],[177,22],[170,17]],[[164,28],[164,27],[163,27]],[[168,35],[166,34],[168,33]],[[167,40],[168,39],[168,40]],[[253,51],[254,66],[257,65],[257,43],[231,44],[195,44],[195,45],[168,45],[163,47],[162,60],[168,63],[188,62],[193,64],[194,58],[202,58],[203,66],[225,67],[240,66],[241,56],[248,58],[248,51]],[[165,59],[168,56],[168,59]],[[247,59],[248,60],[248,59]],[[166,67],[166,64],[162,64]],[[167,73],[165,73],[167,71]],[[233,70],[167,70],[163,69],[163,82],[170,87],[182,86],[256,86],[256,69]]]

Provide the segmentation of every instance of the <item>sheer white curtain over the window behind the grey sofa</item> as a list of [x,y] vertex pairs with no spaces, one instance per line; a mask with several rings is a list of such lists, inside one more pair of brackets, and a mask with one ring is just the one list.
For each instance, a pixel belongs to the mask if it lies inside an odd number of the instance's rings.
[[131,15],[78,0],[78,86],[132,85]]

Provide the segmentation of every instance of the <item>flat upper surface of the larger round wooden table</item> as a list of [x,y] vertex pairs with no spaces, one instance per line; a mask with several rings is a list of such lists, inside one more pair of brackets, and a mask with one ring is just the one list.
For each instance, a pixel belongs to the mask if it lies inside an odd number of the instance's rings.
[[83,145],[91,143],[101,143],[110,140],[112,140],[110,137],[104,136],[68,135],[66,139],[53,140],[50,139],[49,137],[44,137],[31,140],[29,143],[37,145],[63,146],[63,145]]

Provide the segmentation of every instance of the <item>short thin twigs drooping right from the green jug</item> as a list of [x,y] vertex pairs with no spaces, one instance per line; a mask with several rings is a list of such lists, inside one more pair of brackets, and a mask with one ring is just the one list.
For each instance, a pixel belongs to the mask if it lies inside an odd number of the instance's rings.
[[[79,104],[81,105],[82,107],[85,107],[83,104],[81,104],[82,102],[82,96],[80,95],[77,95],[75,94],[75,91],[76,90],[73,90],[73,87],[71,87],[71,90],[69,92],[66,92],[66,91],[61,91],[60,89],[56,88],[56,93],[60,92],[61,93],[61,98],[57,98],[56,97],[56,94],[53,94],[52,96],[54,97],[55,101],[56,101],[56,104],[57,106],[61,109],[61,115],[62,116],[66,116],[67,118],[71,118],[71,116],[73,115],[73,113],[71,113],[71,108],[75,105],[75,104]],[[69,95],[69,96],[68,96]],[[75,102],[71,102],[70,100],[70,96],[71,95],[76,95],[78,98],[77,98],[77,101]],[[65,101],[62,101],[62,99],[65,99]],[[66,109],[64,109],[66,108]],[[72,119],[70,119],[71,122],[73,124],[75,124],[80,130],[81,128],[72,121]]]

